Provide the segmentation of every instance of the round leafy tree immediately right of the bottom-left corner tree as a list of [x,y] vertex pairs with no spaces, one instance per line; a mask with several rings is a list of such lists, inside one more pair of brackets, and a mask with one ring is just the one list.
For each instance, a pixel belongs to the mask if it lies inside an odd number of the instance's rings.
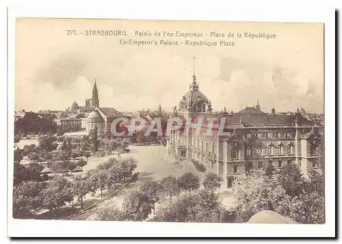
[[47,188],[42,191],[43,203],[50,211],[56,211],[66,202],[73,200],[72,184],[66,178],[55,176],[47,182]]

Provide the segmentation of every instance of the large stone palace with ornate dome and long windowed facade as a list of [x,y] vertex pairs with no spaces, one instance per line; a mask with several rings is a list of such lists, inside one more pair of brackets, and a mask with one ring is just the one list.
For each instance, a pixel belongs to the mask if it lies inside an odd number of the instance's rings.
[[[235,178],[246,177],[250,169],[266,170],[269,165],[281,169],[295,163],[305,176],[318,167],[316,148],[323,126],[304,118],[299,109],[295,113],[276,113],[275,109],[266,113],[258,100],[256,107],[237,113],[227,113],[224,108],[222,113],[213,114],[211,102],[200,92],[194,75],[189,91],[179,107],[174,107],[174,116],[190,127],[170,126],[168,154],[176,161],[203,163],[206,173],[218,174],[226,187],[232,187]],[[212,128],[212,135],[207,135],[207,128]]]

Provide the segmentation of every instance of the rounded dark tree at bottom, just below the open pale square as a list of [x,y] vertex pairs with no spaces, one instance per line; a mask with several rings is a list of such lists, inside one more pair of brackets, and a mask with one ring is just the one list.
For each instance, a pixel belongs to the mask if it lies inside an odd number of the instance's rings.
[[122,203],[125,219],[143,221],[151,212],[148,197],[140,191],[130,191]]

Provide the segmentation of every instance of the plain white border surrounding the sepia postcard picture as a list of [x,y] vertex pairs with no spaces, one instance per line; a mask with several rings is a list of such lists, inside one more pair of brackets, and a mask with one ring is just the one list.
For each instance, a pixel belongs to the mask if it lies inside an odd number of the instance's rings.
[[[64,4],[63,4],[64,3]],[[246,8],[248,4],[248,8]],[[334,124],[334,9],[315,3],[112,3],[98,5],[59,1],[58,4],[10,5],[8,8],[8,145],[13,141],[14,116],[14,24],[18,16],[59,18],[134,18],[210,21],[272,21],[325,23],[325,113],[326,113],[326,224],[324,225],[263,225],[229,223],[153,223],[42,221],[12,219],[8,206],[8,236],[334,236],[335,224],[335,124]],[[8,176],[12,179],[12,147],[8,147]],[[8,181],[8,198],[12,198],[12,180]],[[12,201],[10,201],[12,202]]]

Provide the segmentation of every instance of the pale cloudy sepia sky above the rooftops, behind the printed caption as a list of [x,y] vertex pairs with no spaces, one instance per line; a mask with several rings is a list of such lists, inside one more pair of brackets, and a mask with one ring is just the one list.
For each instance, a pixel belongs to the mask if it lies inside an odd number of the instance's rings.
[[[75,30],[78,36],[67,35]],[[130,36],[85,36],[86,30],[126,30]],[[122,46],[135,31],[204,33],[202,40],[235,46]],[[269,33],[274,39],[210,38],[210,33]],[[83,34],[81,34],[83,33]],[[132,35],[130,34],[132,33]],[[208,35],[208,36],[206,36]],[[270,112],[324,110],[323,25],[18,18],[14,108],[38,111],[85,105],[96,79],[101,107],[118,111],[179,105],[195,72],[214,111],[261,105]],[[187,38],[200,40],[200,38]],[[194,57],[195,70],[194,70]]]

